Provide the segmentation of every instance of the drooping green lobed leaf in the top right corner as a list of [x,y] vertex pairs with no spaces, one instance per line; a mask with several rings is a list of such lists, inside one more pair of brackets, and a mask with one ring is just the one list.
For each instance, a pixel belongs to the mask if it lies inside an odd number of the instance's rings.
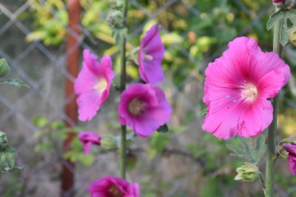
[[288,19],[290,19],[291,22],[296,25],[295,9],[280,9],[270,16],[270,19],[267,23],[267,30],[270,30],[278,20],[281,21],[280,41],[282,46],[286,46],[288,44]]

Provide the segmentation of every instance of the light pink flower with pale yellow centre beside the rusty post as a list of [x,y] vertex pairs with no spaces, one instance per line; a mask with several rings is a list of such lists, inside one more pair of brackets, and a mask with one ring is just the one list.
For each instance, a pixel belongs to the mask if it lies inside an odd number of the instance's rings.
[[78,119],[89,121],[108,99],[115,73],[111,70],[112,61],[109,55],[104,56],[100,64],[96,61],[98,57],[85,49],[83,58],[82,70],[74,83],[74,92],[79,95],[76,99]]

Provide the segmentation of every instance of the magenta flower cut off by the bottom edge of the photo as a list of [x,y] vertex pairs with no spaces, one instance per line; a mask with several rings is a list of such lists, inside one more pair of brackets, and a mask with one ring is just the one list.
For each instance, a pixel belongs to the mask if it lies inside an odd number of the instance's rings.
[[89,184],[91,197],[139,197],[139,184],[106,175]]

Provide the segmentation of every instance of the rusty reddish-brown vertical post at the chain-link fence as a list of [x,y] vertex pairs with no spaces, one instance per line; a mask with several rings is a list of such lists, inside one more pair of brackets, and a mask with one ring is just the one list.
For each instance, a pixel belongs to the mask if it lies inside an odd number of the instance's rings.
[[[80,25],[80,1],[79,0],[68,0],[68,16],[69,16],[69,28],[72,29],[75,33],[79,34],[79,25]],[[68,33],[67,39],[67,70],[74,77],[77,77],[79,70],[79,55],[80,48],[77,47],[78,40],[71,34]],[[74,93],[74,83],[66,77],[65,84],[65,98],[68,99]],[[74,121],[77,122],[77,105],[75,99],[69,102],[65,106],[65,113]],[[71,127],[66,121],[67,127]],[[64,151],[69,149],[71,142],[73,140],[74,133],[69,133],[67,139],[64,140]],[[63,164],[62,170],[62,197],[72,197],[73,196],[73,187],[74,187],[74,164],[70,161],[65,161],[68,164]],[[72,169],[69,169],[72,168]]]

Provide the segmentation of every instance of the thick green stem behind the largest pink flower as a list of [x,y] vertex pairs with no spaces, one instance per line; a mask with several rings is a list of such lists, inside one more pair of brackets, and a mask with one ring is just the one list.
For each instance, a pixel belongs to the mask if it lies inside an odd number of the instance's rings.
[[[277,9],[276,9],[277,11]],[[281,57],[281,44],[280,44],[280,29],[281,22],[278,20],[274,25],[273,33],[273,52],[277,53]],[[267,137],[267,157],[266,157],[266,189],[265,197],[273,197],[274,193],[274,165],[275,160],[273,157],[276,154],[276,129],[277,129],[277,117],[279,107],[279,94],[273,98],[273,120],[268,127]]]

